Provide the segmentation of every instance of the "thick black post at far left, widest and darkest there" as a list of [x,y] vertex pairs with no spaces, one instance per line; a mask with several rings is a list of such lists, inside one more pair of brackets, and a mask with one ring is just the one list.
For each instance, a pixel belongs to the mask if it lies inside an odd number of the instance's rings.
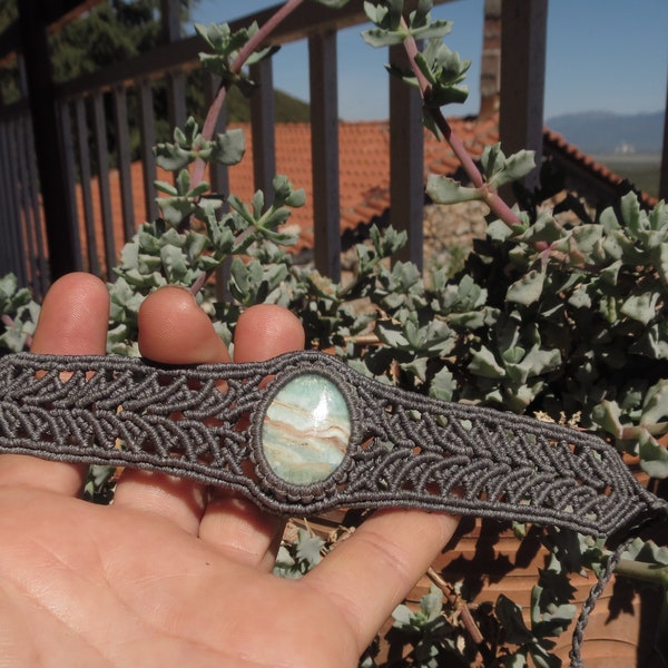
[[75,212],[67,197],[47,26],[40,14],[41,6],[38,0],[21,0],[19,22],[21,42],[26,46],[23,57],[53,279],[76,267],[77,255],[72,232]]

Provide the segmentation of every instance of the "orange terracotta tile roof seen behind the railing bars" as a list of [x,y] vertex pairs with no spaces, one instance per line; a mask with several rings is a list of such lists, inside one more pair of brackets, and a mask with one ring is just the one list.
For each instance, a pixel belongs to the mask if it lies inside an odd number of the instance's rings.
[[[485,120],[475,118],[450,118],[452,129],[460,137],[473,157],[479,157],[484,147],[499,141],[498,118]],[[253,139],[249,126],[230,125],[243,128],[246,136],[246,156],[240,164],[229,168],[230,190],[245,200],[253,196]],[[390,206],[390,127],[387,121],[341,122],[340,136],[340,199],[341,232],[354,230],[367,225],[374,217],[381,216]],[[285,174],[297,188],[304,188],[306,204],[294,209],[288,224],[301,229],[299,248],[313,245],[313,184],[311,178],[311,126],[308,124],[276,124],[276,171]],[[568,144],[560,135],[546,129],[546,145],[559,150],[573,164],[584,167],[595,177],[611,184],[621,178],[602,165],[597,164],[577,147]],[[438,141],[425,130],[424,135],[425,178],[428,174],[453,175],[459,161],[449,145]],[[131,165],[132,197],[135,222],[139,225],[146,219],[143,199],[141,166]],[[159,178],[169,180],[164,174]],[[122,225],[120,213],[120,188],[118,174],[110,174],[112,217],[117,255],[122,247]],[[97,179],[92,183],[94,217],[98,255],[102,257],[102,232]],[[77,189],[79,219],[84,220],[80,188]],[[647,198],[647,196],[646,196]],[[649,198],[651,200],[651,198]],[[81,238],[85,239],[84,223]],[[104,262],[102,262],[104,264]]]

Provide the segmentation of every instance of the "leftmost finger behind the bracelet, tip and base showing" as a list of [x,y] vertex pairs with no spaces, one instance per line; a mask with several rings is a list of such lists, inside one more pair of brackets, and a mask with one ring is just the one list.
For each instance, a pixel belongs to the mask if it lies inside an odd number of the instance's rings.
[[[39,315],[32,353],[104,355],[109,293],[90,274],[68,274],[53,283]],[[0,456],[0,484],[20,484],[76,495],[86,466],[49,462],[21,454]]]

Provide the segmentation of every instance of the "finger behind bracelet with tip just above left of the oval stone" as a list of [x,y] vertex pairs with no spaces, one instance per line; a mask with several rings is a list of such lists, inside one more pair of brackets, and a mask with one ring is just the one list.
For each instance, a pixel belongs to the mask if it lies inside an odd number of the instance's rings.
[[[237,323],[235,362],[262,362],[304,347],[304,330],[289,311],[271,304],[248,308]],[[253,502],[219,489],[199,525],[199,537],[248,566],[269,570],[284,521],[261,511]]]

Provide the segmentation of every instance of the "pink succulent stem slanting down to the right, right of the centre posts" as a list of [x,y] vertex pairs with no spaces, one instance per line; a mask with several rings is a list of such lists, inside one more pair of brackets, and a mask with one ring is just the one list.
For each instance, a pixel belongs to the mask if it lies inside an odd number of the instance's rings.
[[[404,30],[409,30],[405,19],[402,19],[402,27],[404,28]],[[426,100],[431,90],[431,85],[426,80],[425,76],[422,73],[422,70],[418,67],[418,63],[415,62],[415,56],[418,56],[418,45],[415,43],[415,39],[410,35],[404,40],[404,49],[411,62],[413,73],[418,79],[418,86],[420,87],[422,99]],[[485,204],[509,227],[512,225],[518,225],[520,223],[520,219],[513,213],[513,210],[505,204],[505,202],[503,202],[503,199],[499,197],[499,194],[485,184],[484,179],[482,178],[482,175],[480,174],[480,170],[475,166],[475,163],[471,158],[464,145],[461,143],[460,138],[452,131],[452,128],[450,127],[448,119],[443,116],[441,109],[439,107],[428,106],[428,110],[434,119],[436,127],[439,128],[439,130],[441,130],[443,137],[445,137],[445,141],[448,141],[448,144],[452,148],[452,151],[456,156],[456,159],[460,161],[464,171],[471,179],[471,183],[484,194]]]

